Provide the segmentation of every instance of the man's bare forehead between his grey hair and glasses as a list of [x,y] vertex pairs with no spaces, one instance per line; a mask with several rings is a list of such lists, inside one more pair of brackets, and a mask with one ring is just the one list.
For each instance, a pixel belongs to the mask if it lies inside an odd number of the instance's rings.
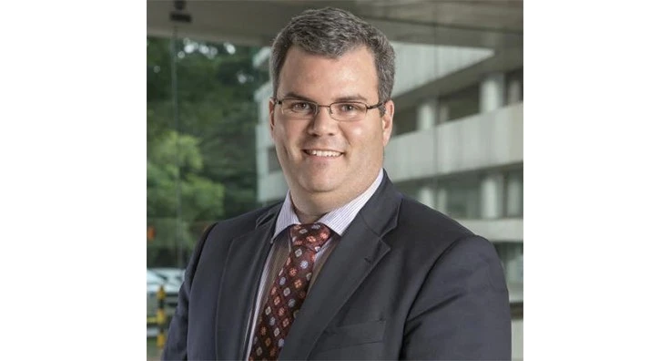
[[374,57],[365,46],[336,58],[291,46],[279,72],[278,96],[290,92],[317,101],[331,101],[359,95],[376,101],[377,84]]

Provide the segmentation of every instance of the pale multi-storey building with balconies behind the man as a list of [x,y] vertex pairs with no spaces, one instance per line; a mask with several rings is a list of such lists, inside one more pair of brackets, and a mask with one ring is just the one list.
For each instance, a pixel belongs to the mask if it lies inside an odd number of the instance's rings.
[[[485,48],[393,43],[393,135],[384,168],[408,196],[495,245],[513,308],[513,359],[523,358],[523,58]],[[269,49],[254,63],[267,68]],[[288,187],[269,136],[268,82],[256,92],[259,203]]]

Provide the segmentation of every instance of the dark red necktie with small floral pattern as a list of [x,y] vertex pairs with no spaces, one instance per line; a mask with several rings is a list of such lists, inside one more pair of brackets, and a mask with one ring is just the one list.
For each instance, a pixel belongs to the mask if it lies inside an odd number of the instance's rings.
[[295,224],[290,227],[289,259],[270,287],[260,309],[249,361],[276,360],[289,335],[289,328],[307,297],[314,260],[330,229],[322,223]]

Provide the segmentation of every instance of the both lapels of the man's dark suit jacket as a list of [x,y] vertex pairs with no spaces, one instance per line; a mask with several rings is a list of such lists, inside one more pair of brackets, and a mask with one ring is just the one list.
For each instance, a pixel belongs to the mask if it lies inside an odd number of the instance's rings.
[[[384,170],[379,188],[342,234],[337,247],[330,253],[328,262],[321,268],[316,282],[310,285],[310,296],[302,304],[299,317],[291,326],[279,359],[307,359],[310,356],[312,348],[332,318],[391,250],[391,246],[382,237],[397,226],[400,205],[401,194],[395,190]],[[252,315],[260,275],[270,246],[270,242],[261,242],[259,246],[258,240],[271,238],[280,208],[281,203],[269,207],[258,217],[256,229],[234,240],[231,245],[236,251],[234,256],[232,253],[228,254],[227,269],[237,272],[224,273],[220,290],[238,290],[245,299],[233,302],[234,297],[219,294],[216,335],[218,358],[244,358],[244,347],[247,346],[245,340],[249,334],[246,327]],[[238,277],[239,270],[253,271],[242,273],[244,276]],[[244,304],[245,308],[240,308],[239,304]],[[227,310],[226,316],[221,310]],[[227,329],[227,325],[234,331]],[[230,332],[232,333],[229,334]],[[232,353],[224,351],[227,349]]]

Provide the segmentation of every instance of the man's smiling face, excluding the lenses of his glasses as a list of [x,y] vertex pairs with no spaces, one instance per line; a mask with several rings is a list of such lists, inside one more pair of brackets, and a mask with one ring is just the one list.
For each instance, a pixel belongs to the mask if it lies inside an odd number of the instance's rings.
[[[355,100],[371,106],[381,100],[377,85],[374,58],[365,47],[332,59],[293,46],[279,74],[277,98],[320,105]],[[383,117],[374,108],[364,119],[346,122],[330,118],[328,108],[320,108],[312,119],[287,119],[270,101],[272,139],[291,193],[342,203],[365,191],[381,168],[391,137],[393,102],[385,106]]]

